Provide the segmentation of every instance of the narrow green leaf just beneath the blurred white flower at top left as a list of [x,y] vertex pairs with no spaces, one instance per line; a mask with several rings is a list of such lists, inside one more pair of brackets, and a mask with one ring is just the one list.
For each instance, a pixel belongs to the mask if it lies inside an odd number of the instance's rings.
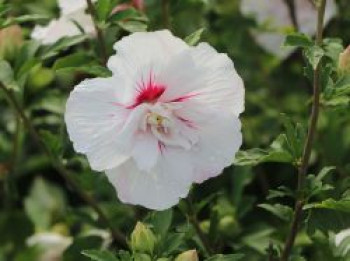
[[58,40],[56,43],[54,43],[51,46],[47,46],[44,48],[41,54],[42,59],[48,59],[53,56],[56,56],[61,51],[64,51],[74,45],[77,45],[79,43],[82,43],[87,39],[86,35],[77,35],[72,37],[64,37],[60,40]]

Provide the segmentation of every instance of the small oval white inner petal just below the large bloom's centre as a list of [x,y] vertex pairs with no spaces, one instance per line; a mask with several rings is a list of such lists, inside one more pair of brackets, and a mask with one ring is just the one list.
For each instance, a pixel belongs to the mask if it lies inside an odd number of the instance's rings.
[[160,153],[158,146],[158,140],[151,133],[136,136],[132,157],[140,170],[150,171],[156,165]]

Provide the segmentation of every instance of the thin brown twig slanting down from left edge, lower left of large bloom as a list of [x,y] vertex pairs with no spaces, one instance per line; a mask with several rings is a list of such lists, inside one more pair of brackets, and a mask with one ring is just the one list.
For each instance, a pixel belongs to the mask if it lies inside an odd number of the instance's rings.
[[89,204],[95,212],[98,214],[100,220],[109,227],[112,237],[114,241],[120,245],[121,247],[127,247],[125,236],[118,230],[114,228],[111,224],[110,220],[107,218],[103,210],[100,208],[98,203],[95,201],[93,197],[86,194],[80,186],[76,183],[76,181],[72,178],[72,173],[67,170],[61,161],[51,152],[51,150],[47,147],[46,143],[41,139],[39,133],[36,131],[30,119],[24,113],[24,110],[21,108],[13,93],[6,89],[3,85],[0,84],[0,88],[4,91],[6,97],[8,98],[9,103],[11,103],[12,107],[16,111],[18,117],[23,121],[24,126],[30,132],[34,141],[39,145],[39,147],[45,152],[45,154],[51,160],[53,167],[57,170],[57,172],[64,178],[67,184],[79,195],[79,197],[84,200],[87,204]]

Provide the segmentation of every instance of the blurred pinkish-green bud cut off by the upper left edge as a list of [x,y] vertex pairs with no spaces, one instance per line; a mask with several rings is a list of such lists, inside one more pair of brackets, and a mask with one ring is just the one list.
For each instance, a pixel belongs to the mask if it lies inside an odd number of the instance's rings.
[[0,58],[11,60],[23,43],[22,29],[12,25],[0,30]]

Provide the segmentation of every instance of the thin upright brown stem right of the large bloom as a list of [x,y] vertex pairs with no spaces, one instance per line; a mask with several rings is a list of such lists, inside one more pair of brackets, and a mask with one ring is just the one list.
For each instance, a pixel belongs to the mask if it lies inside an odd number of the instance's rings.
[[[316,41],[315,41],[317,45],[322,44],[323,20],[324,20],[325,9],[326,9],[326,0],[321,0],[320,5],[318,6],[317,34],[316,34]],[[295,203],[292,226],[284,245],[281,261],[288,260],[294,245],[296,235],[299,230],[301,220],[302,220],[303,206],[305,204],[304,192],[303,192],[304,183],[305,183],[305,178],[307,174],[307,168],[310,161],[312,144],[316,133],[317,121],[318,121],[318,115],[319,115],[319,109],[320,109],[320,70],[321,70],[321,67],[319,64],[317,68],[314,70],[313,103],[312,103],[311,116],[310,116],[310,122],[309,122],[309,128],[308,128],[309,131],[306,137],[303,157],[302,157],[301,165],[298,171],[298,187],[297,187],[298,198]]]

